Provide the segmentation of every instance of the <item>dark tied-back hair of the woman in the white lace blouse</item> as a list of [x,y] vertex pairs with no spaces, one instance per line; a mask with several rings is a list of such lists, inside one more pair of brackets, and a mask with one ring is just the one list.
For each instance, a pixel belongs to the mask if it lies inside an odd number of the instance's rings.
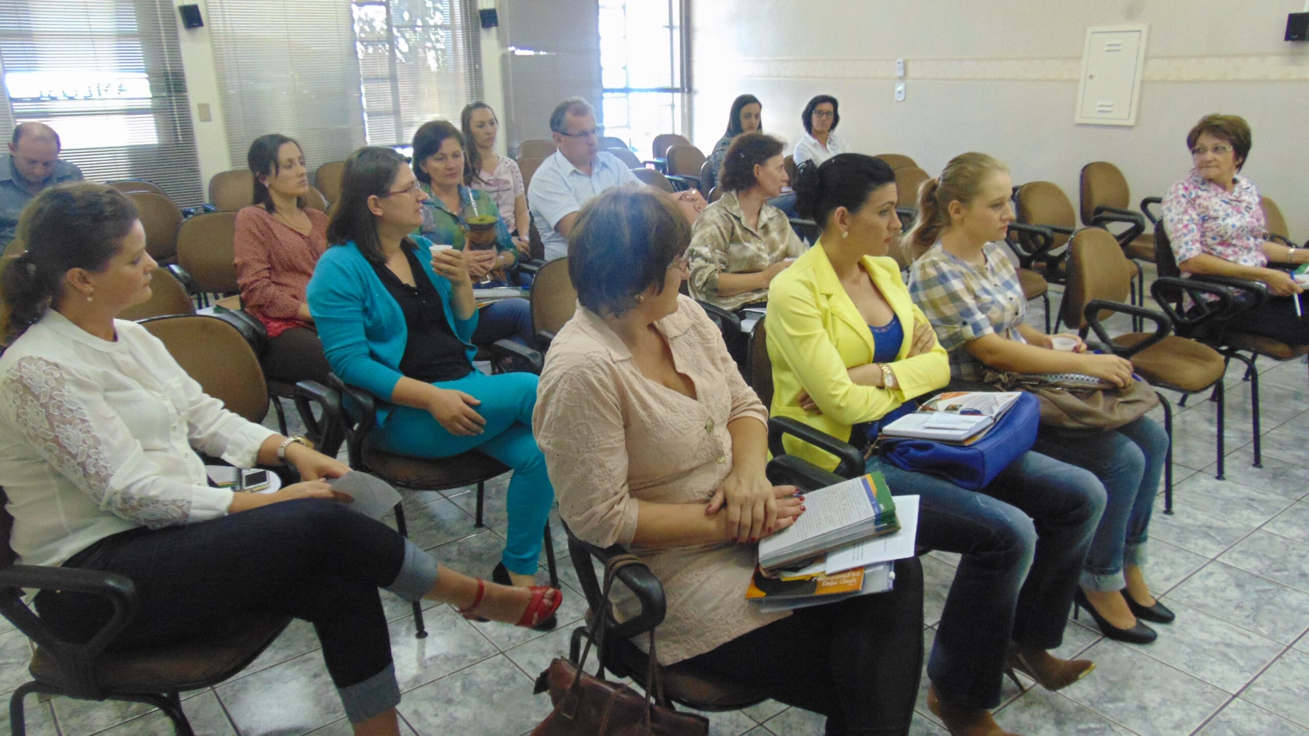
[[98,272],[122,248],[136,207],[114,187],[69,182],[38,194],[18,220],[27,251],[4,270],[5,343],[21,335],[59,299],[69,268]]

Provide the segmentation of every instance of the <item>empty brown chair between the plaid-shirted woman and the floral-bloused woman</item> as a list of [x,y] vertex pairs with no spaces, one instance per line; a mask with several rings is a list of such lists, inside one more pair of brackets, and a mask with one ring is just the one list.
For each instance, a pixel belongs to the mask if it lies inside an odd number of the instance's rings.
[[[1217,402],[1216,458],[1217,477],[1223,478],[1223,419],[1224,392],[1223,378],[1227,373],[1227,360],[1212,347],[1198,340],[1170,335],[1173,323],[1168,314],[1123,304],[1131,292],[1136,266],[1123,254],[1122,246],[1113,233],[1101,228],[1085,228],[1069,241],[1068,284],[1060,308],[1060,318],[1085,335],[1088,329],[1096,331],[1101,343],[1114,355],[1132,361],[1136,375],[1151,385],[1169,389],[1185,396],[1213,389]],[[1166,276],[1166,285],[1177,279]],[[1103,305],[1105,309],[1094,306]],[[1155,333],[1126,333],[1109,337],[1101,321],[1113,312],[1132,314],[1156,323]],[[1164,431],[1168,432],[1168,461],[1164,465],[1164,511],[1173,511],[1173,406],[1162,394]]]

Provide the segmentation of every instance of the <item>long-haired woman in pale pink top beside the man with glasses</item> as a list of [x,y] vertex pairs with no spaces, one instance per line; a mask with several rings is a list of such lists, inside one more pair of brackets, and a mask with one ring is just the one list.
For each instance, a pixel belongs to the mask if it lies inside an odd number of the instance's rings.
[[463,140],[469,144],[469,169],[473,172],[473,189],[487,193],[500,210],[500,219],[518,249],[520,258],[531,255],[528,242],[528,190],[522,186],[522,172],[518,162],[495,152],[500,120],[495,110],[486,102],[470,102],[459,115]]

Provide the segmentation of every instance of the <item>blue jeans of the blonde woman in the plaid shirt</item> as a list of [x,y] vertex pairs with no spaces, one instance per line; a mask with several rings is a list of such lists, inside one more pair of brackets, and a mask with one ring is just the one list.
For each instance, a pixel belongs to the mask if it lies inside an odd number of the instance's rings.
[[1109,506],[1086,554],[1081,584],[1088,591],[1122,591],[1123,564],[1145,564],[1145,540],[1155,494],[1168,461],[1168,432],[1149,416],[1089,437],[1041,430],[1037,449],[1094,473]]

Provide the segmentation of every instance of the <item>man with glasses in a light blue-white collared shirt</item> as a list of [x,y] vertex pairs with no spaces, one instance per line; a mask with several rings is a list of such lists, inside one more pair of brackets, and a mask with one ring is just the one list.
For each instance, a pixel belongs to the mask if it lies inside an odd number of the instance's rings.
[[550,130],[559,151],[541,162],[528,189],[546,261],[568,255],[568,233],[583,204],[607,189],[637,181],[626,164],[600,149],[602,131],[596,126],[596,111],[581,97],[555,107]]

